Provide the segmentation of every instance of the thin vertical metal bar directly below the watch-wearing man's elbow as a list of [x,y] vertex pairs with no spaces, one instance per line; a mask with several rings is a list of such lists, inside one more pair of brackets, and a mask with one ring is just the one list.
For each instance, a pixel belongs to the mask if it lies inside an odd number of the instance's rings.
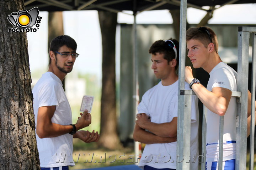
[[222,170],[222,163],[223,163],[223,129],[224,129],[224,116],[220,116],[219,121],[219,168],[218,170]]

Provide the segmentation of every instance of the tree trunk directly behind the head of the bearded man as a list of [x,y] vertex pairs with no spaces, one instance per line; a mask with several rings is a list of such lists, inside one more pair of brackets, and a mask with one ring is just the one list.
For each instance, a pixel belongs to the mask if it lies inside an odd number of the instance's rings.
[[[49,12],[48,14],[48,50],[50,49],[50,42],[56,36],[63,35],[63,17],[62,12]],[[50,57],[50,56],[49,56]],[[65,90],[65,78],[62,81],[63,89]]]

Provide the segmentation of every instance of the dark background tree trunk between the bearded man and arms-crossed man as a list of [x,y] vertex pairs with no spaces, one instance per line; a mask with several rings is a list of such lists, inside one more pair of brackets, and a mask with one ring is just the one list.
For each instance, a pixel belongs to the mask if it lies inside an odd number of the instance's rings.
[[102,35],[102,95],[99,145],[114,149],[120,146],[116,116],[116,25],[117,13],[99,11]]

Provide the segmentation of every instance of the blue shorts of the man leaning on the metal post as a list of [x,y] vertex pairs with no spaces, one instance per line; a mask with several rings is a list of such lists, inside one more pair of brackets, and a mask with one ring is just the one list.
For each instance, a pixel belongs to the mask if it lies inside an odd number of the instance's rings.
[[[223,170],[235,170],[235,159],[226,160],[222,163]],[[217,170],[218,162],[206,162],[206,170]]]

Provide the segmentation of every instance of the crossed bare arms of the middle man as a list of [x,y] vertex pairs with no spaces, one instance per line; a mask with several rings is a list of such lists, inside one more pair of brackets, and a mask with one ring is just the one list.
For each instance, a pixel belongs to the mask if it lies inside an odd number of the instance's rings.
[[[146,130],[148,131],[146,131]],[[150,131],[150,132],[149,132]],[[153,123],[145,114],[138,114],[133,132],[135,141],[145,144],[175,142],[177,135],[177,117],[169,123]]]

